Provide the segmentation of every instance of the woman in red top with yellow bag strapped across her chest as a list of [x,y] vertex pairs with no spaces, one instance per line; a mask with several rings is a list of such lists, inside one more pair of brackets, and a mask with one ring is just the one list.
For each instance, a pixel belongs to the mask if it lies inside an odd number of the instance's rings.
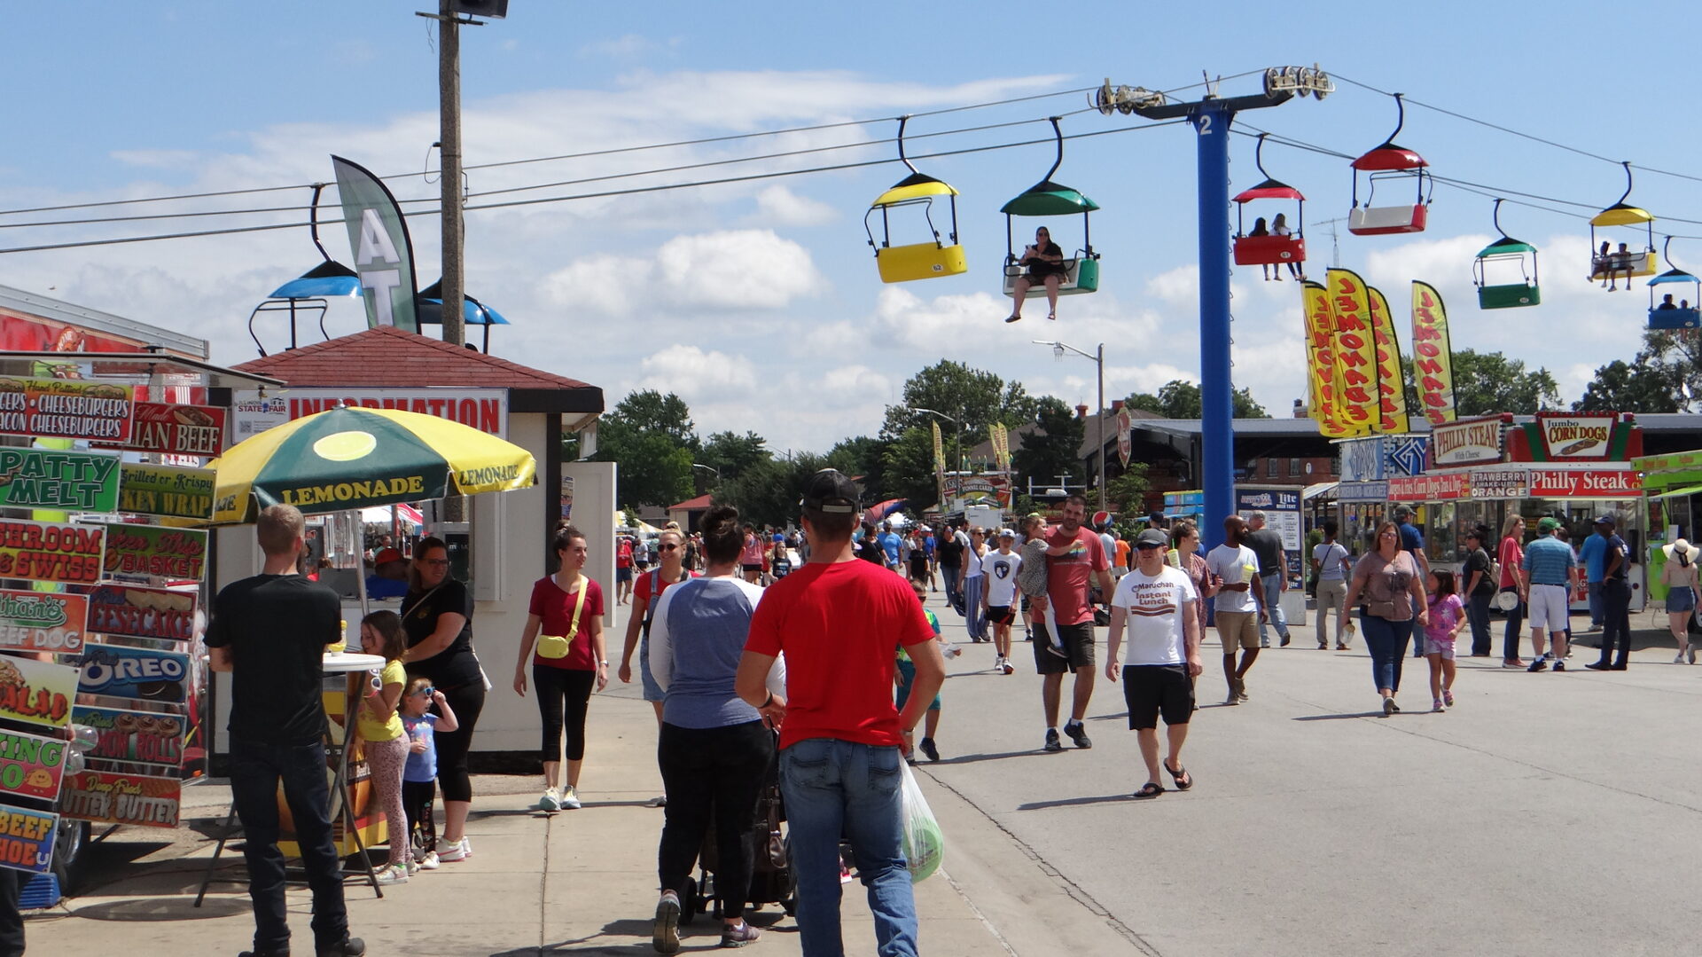
[[[543,722],[545,792],[540,811],[579,807],[579,770],[585,758],[585,708],[591,691],[609,683],[603,645],[603,587],[580,574],[585,535],[572,524],[555,533],[560,569],[533,584],[521,654],[514,664],[514,691],[526,695],[526,661],[531,659],[538,715]],[[562,732],[567,732],[567,788],[562,790]]]

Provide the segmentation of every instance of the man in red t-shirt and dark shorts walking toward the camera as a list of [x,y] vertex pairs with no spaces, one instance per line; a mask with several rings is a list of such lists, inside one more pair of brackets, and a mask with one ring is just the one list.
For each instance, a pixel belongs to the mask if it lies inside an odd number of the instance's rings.
[[1071,719],[1064,725],[1076,748],[1093,748],[1088,737],[1088,700],[1093,698],[1093,601],[1089,586],[1099,582],[1099,594],[1111,594],[1110,562],[1105,555],[1105,543],[1082,524],[1088,518],[1088,499],[1071,496],[1064,501],[1062,518],[1057,530],[1047,538],[1047,545],[1069,547],[1069,553],[1047,559],[1047,598],[1042,605],[1052,608],[1052,622],[1057,623],[1059,639],[1064,642],[1064,657],[1042,654],[1042,642],[1035,642],[1035,668],[1043,681],[1040,685],[1040,702],[1047,712],[1045,751],[1062,751],[1059,741],[1059,698],[1064,691],[1064,671],[1076,673],[1076,696],[1071,703]]

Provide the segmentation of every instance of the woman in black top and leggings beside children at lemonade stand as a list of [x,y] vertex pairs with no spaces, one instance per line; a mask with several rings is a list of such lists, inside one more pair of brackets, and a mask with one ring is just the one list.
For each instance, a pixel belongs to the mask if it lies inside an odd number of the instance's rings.
[[473,805],[466,751],[473,746],[478,712],[485,708],[485,673],[473,652],[473,596],[449,577],[449,547],[443,538],[422,538],[414,547],[408,594],[402,599],[402,630],[408,635],[403,656],[408,678],[431,679],[460,720],[454,731],[434,734],[444,816],[436,850],[437,860],[465,860],[473,853],[465,831],[466,812]]

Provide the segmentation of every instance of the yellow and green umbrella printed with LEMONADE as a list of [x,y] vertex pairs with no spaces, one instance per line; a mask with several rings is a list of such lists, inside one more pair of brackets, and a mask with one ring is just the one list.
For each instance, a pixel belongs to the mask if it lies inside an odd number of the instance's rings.
[[526,489],[538,461],[478,429],[397,409],[337,407],[245,439],[213,463],[213,524],[274,504],[305,514]]

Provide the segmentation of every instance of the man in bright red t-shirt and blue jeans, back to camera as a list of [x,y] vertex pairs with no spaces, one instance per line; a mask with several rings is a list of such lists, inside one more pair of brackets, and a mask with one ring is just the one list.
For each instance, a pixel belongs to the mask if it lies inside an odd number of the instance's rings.
[[[780,783],[805,954],[844,954],[839,838],[851,840],[868,887],[880,954],[916,945],[916,899],[902,850],[899,782],[904,734],[945,681],[945,659],[911,586],[851,550],[858,487],[832,468],[803,490],[808,562],[776,581],[751,618],[734,690],[780,725]],[[892,705],[897,645],[916,664],[904,712]],[[764,685],[786,656],[786,696]]]

